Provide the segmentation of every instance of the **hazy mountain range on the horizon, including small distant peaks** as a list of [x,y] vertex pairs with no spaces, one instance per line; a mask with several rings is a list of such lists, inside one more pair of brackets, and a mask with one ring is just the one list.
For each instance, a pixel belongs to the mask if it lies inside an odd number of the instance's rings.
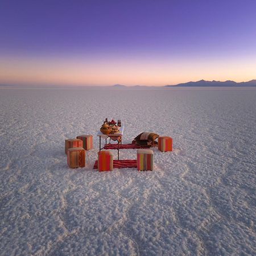
[[[164,85],[162,87],[174,87],[174,86],[179,86],[179,87],[193,87],[193,86],[198,86],[198,87],[245,87],[245,86],[256,86],[256,79],[251,80],[251,81],[247,81],[247,82],[235,82],[235,81],[205,81],[205,80],[200,80],[200,81],[196,81],[196,82],[184,82],[182,84],[176,84],[176,85]],[[115,84],[113,85],[113,87],[117,87],[117,88],[125,88],[128,87],[126,85],[122,85],[122,84]],[[148,87],[145,85],[134,85],[134,86],[129,86],[129,87]],[[154,86],[151,86],[154,87]]]

